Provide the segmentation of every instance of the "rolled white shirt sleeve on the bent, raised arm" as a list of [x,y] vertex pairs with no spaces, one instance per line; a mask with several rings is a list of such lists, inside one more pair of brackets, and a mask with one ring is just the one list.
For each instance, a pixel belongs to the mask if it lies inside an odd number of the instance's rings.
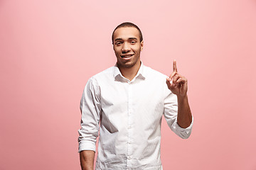
[[176,133],[179,137],[183,139],[187,139],[191,135],[192,126],[193,126],[193,116],[192,116],[192,122],[191,125],[188,126],[188,128],[181,128],[177,123],[177,115],[178,115],[178,101],[177,96],[169,89],[165,91],[164,98],[164,118],[166,119],[167,124],[169,125],[169,128],[173,132]]

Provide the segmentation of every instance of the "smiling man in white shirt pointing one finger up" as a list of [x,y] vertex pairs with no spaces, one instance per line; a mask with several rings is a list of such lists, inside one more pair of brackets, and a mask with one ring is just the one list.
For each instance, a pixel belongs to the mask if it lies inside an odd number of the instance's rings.
[[81,167],[93,169],[100,129],[96,169],[162,169],[162,115],[176,135],[191,135],[187,79],[175,60],[170,77],[142,64],[142,33],[133,23],[117,26],[112,44],[117,64],[91,77],[82,94]]

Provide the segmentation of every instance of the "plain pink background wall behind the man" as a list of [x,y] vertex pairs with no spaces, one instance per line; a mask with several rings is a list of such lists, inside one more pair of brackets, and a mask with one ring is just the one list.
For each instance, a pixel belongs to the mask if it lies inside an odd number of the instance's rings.
[[195,118],[162,126],[164,169],[256,169],[256,1],[0,1],[0,169],[80,169],[80,97],[115,63],[112,30],[144,35],[142,61],[188,78]]

